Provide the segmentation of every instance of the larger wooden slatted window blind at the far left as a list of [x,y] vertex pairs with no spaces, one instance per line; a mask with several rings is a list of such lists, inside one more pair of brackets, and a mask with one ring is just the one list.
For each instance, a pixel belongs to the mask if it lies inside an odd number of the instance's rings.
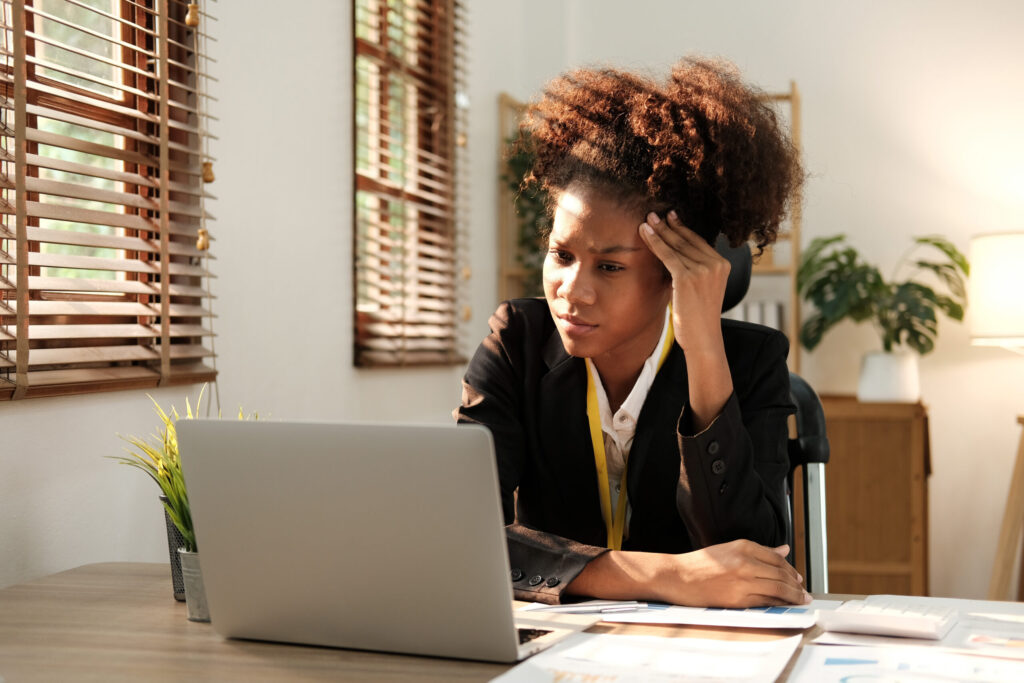
[[0,6],[0,399],[214,379],[212,17],[178,0]]

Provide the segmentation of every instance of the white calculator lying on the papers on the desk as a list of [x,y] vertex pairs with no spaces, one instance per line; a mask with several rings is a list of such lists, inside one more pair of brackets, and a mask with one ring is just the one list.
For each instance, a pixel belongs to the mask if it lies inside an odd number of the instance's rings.
[[956,610],[949,607],[872,597],[870,602],[850,600],[837,609],[822,609],[818,624],[825,631],[941,640],[956,624]]

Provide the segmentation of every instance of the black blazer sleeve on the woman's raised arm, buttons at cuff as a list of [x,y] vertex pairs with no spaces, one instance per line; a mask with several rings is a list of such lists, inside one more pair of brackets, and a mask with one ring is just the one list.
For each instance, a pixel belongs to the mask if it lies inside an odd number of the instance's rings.
[[733,393],[718,418],[696,434],[688,403],[679,419],[676,505],[698,547],[736,539],[786,543],[786,420],[795,412],[788,342],[774,332],[759,336],[759,345],[744,343],[742,355],[752,361],[733,369]]

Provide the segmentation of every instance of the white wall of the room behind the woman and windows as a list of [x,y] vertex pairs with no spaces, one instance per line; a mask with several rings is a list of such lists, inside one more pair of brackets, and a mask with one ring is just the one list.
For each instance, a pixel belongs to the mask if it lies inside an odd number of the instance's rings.
[[[497,93],[520,98],[568,65],[665,70],[728,56],[762,87],[804,95],[812,177],[805,238],[849,233],[888,270],[910,236],[967,248],[1024,217],[1024,6],[777,0],[469,0],[474,319],[494,307]],[[351,47],[348,3],[214,7],[218,201],[212,226],[220,393],[278,418],[442,421],[460,371],[351,368]],[[316,20],[306,17],[316,16]],[[284,17],[284,19],[283,19]],[[291,264],[314,253],[321,267]],[[1024,411],[1024,362],[940,326],[922,365],[932,416],[932,588],[984,594]],[[805,355],[820,390],[853,392],[869,329]],[[180,404],[186,388],[155,393]],[[166,556],[156,486],[101,458],[155,426],[143,392],[0,405],[0,586],[102,560]],[[41,436],[43,435],[43,436]]]

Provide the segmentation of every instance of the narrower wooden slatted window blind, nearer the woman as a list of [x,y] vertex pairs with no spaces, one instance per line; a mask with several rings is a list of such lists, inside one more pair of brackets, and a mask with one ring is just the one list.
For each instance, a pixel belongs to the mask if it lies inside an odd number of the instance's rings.
[[356,0],[355,365],[462,362],[465,10]]

